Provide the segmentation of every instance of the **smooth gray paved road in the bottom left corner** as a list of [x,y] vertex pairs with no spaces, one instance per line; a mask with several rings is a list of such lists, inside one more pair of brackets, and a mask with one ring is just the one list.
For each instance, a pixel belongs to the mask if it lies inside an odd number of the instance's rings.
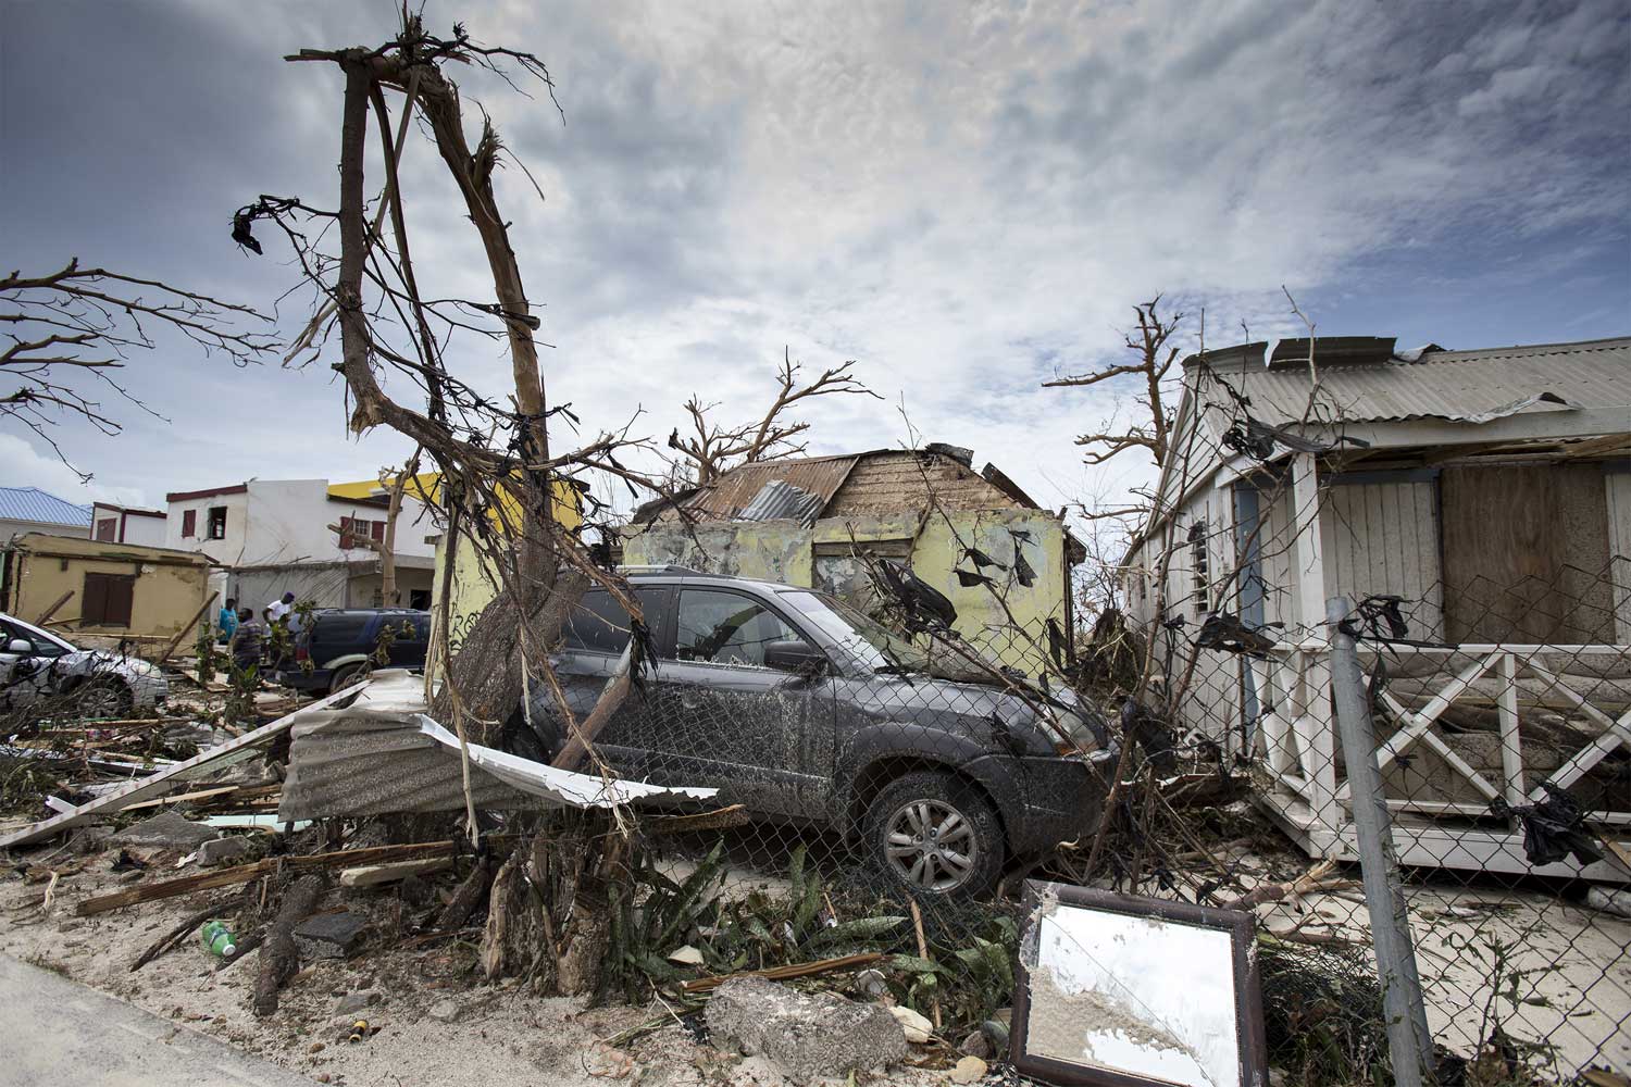
[[176,1022],[0,955],[0,1087],[313,1087]]

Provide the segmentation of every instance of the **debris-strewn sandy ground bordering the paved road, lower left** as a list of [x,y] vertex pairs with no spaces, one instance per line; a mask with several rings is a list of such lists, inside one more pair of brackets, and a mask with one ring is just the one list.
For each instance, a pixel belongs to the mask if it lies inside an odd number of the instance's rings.
[[[67,852],[34,851],[33,864],[62,864]],[[651,1007],[586,1009],[581,1001],[541,999],[517,986],[475,981],[473,944],[383,950],[382,940],[351,960],[316,960],[284,989],[276,1015],[250,1010],[256,955],[222,971],[196,940],[132,973],[130,963],[188,913],[228,891],[145,903],[93,918],[75,918],[73,903],[126,887],[109,872],[116,851],[91,857],[78,875],[59,882],[51,909],[42,883],[0,880],[0,952],[57,971],[258,1054],[316,1082],[349,1087],[483,1084],[489,1087],[780,1087],[783,1077],[762,1059],[742,1059],[696,1045],[670,1023],[613,1050],[602,1040],[664,1015]],[[157,878],[173,872],[175,852],[150,854]],[[191,870],[191,869],[188,869]],[[352,895],[346,904],[373,903],[383,914],[388,893]],[[338,904],[333,896],[325,903]],[[373,989],[360,1012],[375,1028],[349,1043],[336,1001]],[[450,1007],[449,1007],[450,1002]],[[437,1009],[432,1015],[432,1007]],[[892,1069],[858,1084],[943,1084],[944,1071]]]

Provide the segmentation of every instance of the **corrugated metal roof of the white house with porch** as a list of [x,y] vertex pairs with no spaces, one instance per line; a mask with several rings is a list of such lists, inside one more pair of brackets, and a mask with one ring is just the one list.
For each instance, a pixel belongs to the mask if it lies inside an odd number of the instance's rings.
[[[1318,344],[1315,363],[1319,363]],[[1186,367],[1194,367],[1189,360]],[[1308,367],[1262,367],[1235,355],[1212,368],[1251,398],[1262,422],[1298,422],[1308,404]],[[1408,362],[1321,365],[1319,385],[1352,420],[1456,419],[1478,422],[1518,411],[1631,406],[1631,337],[1483,350],[1434,350]],[[1207,399],[1215,399],[1204,393]],[[1631,417],[1628,417],[1631,427]]]

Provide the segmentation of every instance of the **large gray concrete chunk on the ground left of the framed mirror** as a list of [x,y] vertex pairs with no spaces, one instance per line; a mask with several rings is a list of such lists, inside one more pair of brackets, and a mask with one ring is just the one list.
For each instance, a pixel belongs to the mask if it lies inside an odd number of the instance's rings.
[[765,978],[721,984],[706,1019],[716,1045],[762,1056],[796,1084],[881,1069],[907,1054],[905,1033],[884,1007]]

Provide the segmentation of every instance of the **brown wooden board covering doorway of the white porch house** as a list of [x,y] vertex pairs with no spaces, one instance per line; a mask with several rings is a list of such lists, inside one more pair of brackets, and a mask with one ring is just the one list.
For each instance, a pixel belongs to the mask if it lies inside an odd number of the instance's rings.
[[1445,468],[1450,642],[1613,642],[1608,497],[1598,464]]

